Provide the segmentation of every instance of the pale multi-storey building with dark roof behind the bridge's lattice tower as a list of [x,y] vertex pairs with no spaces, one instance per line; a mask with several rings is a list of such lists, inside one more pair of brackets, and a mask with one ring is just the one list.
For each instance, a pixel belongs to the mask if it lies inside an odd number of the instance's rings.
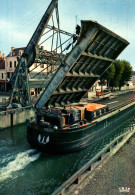
[[[24,49],[25,47],[21,48],[11,47],[11,51],[6,57],[4,56],[4,54],[1,55],[0,52],[0,91],[8,91],[11,89],[10,79],[13,75],[13,72],[15,71],[19,58],[24,52]],[[29,72],[32,81],[34,79],[36,79],[36,81],[42,80],[42,78],[44,78],[43,74],[47,74],[48,72],[48,67],[46,64],[41,64],[38,61],[36,61],[29,68]],[[38,74],[39,72],[42,72],[42,74]],[[41,89],[32,88],[31,91],[32,94],[35,95],[35,92],[37,91],[40,92]]]

